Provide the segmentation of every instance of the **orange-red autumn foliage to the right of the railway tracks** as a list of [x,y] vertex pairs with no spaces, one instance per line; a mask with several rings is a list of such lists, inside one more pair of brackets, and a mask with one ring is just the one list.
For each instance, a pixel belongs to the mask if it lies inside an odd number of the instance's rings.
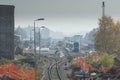
[[[96,63],[95,65],[98,65],[99,60],[101,60],[101,57],[98,57],[98,55],[91,55],[90,56],[90,62]],[[102,57],[103,60],[103,57]],[[107,63],[106,63],[107,64]],[[91,71],[91,70],[98,70],[95,66],[87,62],[87,57],[78,57],[73,60],[73,65],[76,67],[80,67],[82,70],[85,71]],[[104,64],[99,65],[99,71],[106,72],[108,69],[110,69],[111,66],[105,66]]]

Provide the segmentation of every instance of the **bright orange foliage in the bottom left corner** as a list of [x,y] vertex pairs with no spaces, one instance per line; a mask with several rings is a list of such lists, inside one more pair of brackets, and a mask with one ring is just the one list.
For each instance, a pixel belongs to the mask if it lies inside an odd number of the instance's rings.
[[26,70],[13,64],[0,67],[0,76],[4,75],[17,80],[35,80],[35,70]]

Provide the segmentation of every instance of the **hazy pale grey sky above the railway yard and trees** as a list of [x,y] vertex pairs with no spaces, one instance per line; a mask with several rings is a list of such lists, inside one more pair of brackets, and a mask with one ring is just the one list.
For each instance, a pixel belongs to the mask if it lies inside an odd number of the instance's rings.
[[[103,0],[0,0],[0,4],[15,5],[15,26],[46,26],[65,34],[81,33],[98,27],[102,16]],[[120,19],[120,0],[104,0],[105,14],[114,20]]]

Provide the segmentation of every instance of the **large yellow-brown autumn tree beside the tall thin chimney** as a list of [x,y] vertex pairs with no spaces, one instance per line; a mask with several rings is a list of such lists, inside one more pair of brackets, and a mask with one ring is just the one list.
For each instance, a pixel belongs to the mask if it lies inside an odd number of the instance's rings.
[[[111,17],[104,16],[99,19],[99,28],[94,34],[95,49],[98,52],[111,54],[116,51],[118,41],[116,42],[117,36],[115,35],[115,30],[116,24]],[[119,32],[120,31],[118,31],[118,33]]]

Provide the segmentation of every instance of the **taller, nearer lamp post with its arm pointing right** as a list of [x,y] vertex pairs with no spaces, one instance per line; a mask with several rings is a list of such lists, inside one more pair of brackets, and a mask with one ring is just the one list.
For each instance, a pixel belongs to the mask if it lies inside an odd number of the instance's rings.
[[[44,18],[39,18],[39,19],[36,19],[36,20],[34,20],[34,57],[35,57],[35,69],[36,69],[36,71],[37,71],[37,53],[36,53],[36,30],[35,30],[35,22],[36,21],[41,21],[41,20],[44,20]],[[36,79],[35,80],[37,80],[37,72],[36,72]]]

